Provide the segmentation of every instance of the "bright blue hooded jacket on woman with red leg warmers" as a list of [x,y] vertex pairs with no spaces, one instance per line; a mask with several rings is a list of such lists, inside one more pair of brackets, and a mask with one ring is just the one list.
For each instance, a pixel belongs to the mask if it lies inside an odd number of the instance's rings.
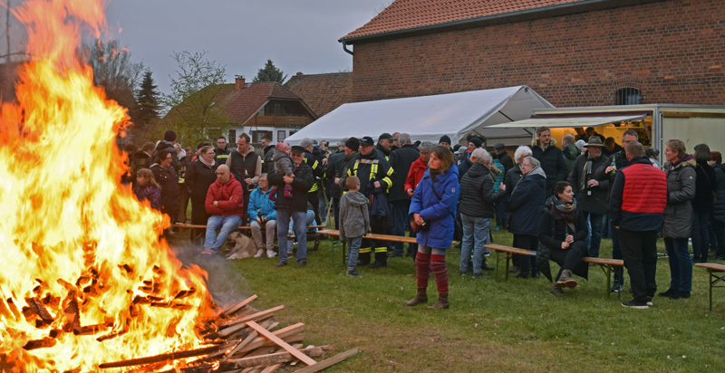
[[[420,184],[415,188],[411,200],[409,216],[412,221],[413,214],[418,213],[430,227],[416,234],[418,244],[447,250],[453,242],[455,230],[453,216],[456,215],[460,196],[458,172],[458,167],[452,165],[446,173],[438,175],[433,182],[430,169],[427,169],[420,179]],[[434,187],[440,198],[433,193]]]

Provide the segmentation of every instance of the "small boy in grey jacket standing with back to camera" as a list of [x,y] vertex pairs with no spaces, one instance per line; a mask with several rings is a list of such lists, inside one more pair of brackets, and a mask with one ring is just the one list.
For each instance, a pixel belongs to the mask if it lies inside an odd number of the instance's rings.
[[347,246],[350,249],[350,256],[347,259],[347,275],[359,276],[355,271],[357,256],[360,253],[362,236],[370,229],[370,217],[368,215],[368,199],[362,196],[360,190],[360,179],[358,177],[347,177],[345,186],[349,192],[340,199],[340,239],[347,239]]

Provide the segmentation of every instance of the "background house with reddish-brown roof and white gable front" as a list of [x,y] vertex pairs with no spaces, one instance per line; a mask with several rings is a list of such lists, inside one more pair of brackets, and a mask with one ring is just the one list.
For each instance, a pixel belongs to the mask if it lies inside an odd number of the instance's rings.
[[318,118],[300,96],[278,83],[247,83],[237,76],[234,84],[226,86],[218,102],[232,126],[227,134],[230,147],[243,132],[254,144],[265,135],[284,141]]

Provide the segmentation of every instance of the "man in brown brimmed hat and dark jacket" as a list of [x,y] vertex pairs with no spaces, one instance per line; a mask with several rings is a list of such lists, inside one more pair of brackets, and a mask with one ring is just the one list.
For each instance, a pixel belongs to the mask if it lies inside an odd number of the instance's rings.
[[604,166],[606,162],[606,157],[602,154],[604,148],[602,139],[592,136],[585,146],[589,151],[577,157],[572,168],[572,191],[577,208],[581,209],[591,227],[586,240],[588,255],[598,258],[604,215],[606,215],[606,200],[609,195],[609,180],[599,181],[594,177],[597,168]]

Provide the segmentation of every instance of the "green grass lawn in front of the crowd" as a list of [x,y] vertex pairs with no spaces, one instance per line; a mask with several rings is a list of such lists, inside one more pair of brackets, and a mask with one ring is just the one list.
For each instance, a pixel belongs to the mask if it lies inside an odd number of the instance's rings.
[[[495,232],[494,240],[511,244],[512,235]],[[188,241],[179,237],[171,244]],[[611,241],[602,246],[601,256],[611,257]],[[659,247],[663,252],[662,242]],[[359,268],[362,277],[353,278],[344,275],[339,247],[333,265],[329,240],[308,254],[302,268],[294,261],[276,268],[275,259],[181,256],[208,270],[212,292],[256,293],[258,309],[285,304],[277,320],[304,322],[305,343],[332,344],[338,352],[362,349],[329,371],[725,371],[725,292],[716,290],[709,312],[708,275],[700,268],[693,269],[691,299],[655,297],[649,310],[631,310],[616,294],[605,298],[598,267],[590,267],[589,281],[577,278],[579,286],[557,298],[543,276],[505,282],[503,255],[498,264],[495,254],[488,257],[489,265],[501,267],[500,282],[459,277],[460,251],[454,248],[446,259],[450,309],[428,311],[404,305],[416,292],[410,258],[391,259],[387,269]],[[669,266],[666,259],[657,264],[662,292],[669,287]],[[432,278],[428,294],[431,304],[437,299]],[[631,296],[624,292],[622,299]]]

